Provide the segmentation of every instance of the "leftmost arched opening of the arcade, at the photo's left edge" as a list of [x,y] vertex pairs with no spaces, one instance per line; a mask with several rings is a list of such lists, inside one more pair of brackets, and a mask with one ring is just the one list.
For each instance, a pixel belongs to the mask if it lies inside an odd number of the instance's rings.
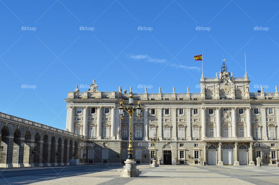
[[6,168],[8,164],[7,153],[9,144],[9,130],[8,127],[4,126],[1,130],[1,148],[3,151],[0,152],[0,163],[1,167]]

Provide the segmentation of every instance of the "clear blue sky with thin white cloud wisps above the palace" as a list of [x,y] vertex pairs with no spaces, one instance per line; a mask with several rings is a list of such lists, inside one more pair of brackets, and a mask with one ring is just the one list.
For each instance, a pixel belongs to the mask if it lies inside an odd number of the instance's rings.
[[278,7],[276,0],[1,0],[0,111],[65,129],[67,92],[93,79],[100,91],[200,92],[193,57],[201,53],[205,77],[220,70],[223,55],[243,77],[246,52],[250,91],[274,92]]

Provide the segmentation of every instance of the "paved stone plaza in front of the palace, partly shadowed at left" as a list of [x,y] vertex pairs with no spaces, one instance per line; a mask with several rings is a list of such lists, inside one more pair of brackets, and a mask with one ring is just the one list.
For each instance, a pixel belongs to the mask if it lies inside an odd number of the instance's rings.
[[0,184],[279,184],[276,166],[168,166],[143,169],[140,177],[120,178],[122,166],[2,168]]

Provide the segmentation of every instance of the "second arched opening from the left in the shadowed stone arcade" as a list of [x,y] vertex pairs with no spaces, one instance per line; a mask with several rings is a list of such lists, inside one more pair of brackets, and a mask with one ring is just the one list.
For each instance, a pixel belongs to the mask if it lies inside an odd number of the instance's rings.
[[20,153],[21,153],[20,142],[21,142],[20,131],[19,131],[19,129],[15,129],[14,141],[13,141],[13,147],[12,147],[12,166],[13,167],[23,167],[22,161],[20,161]]

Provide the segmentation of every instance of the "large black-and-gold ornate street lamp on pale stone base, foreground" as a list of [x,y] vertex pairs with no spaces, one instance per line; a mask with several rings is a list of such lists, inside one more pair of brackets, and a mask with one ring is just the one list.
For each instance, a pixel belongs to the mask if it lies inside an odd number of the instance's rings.
[[129,124],[129,146],[128,146],[128,157],[125,161],[124,169],[119,169],[118,172],[120,173],[121,177],[139,177],[142,170],[138,170],[135,167],[135,160],[133,159],[133,147],[132,147],[132,121],[133,121],[133,113],[136,112],[137,117],[141,119],[142,117],[142,106],[140,102],[137,102],[137,106],[133,106],[134,95],[132,91],[132,87],[130,87],[130,94],[128,96],[129,103],[128,106],[125,106],[121,101],[118,107],[119,115],[121,119],[124,118],[125,111],[129,114],[130,124]]

